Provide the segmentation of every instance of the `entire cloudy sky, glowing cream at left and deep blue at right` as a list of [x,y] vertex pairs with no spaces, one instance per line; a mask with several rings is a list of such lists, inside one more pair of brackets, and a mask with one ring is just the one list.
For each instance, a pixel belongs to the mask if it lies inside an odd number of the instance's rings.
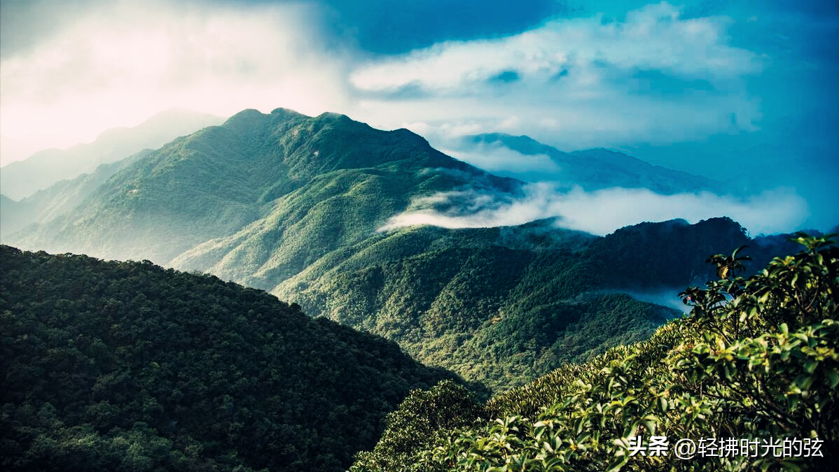
[[[341,112],[443,149],[481,132],[619,149],[749,192],[682,195],[689,220],[737,206],[777,221],[752,232],[827,229],[835,44],[822,0],[0,0],[0,139],[66,147],[171,107]],[[618,190],[564,201],[595,196],[683,217]]]

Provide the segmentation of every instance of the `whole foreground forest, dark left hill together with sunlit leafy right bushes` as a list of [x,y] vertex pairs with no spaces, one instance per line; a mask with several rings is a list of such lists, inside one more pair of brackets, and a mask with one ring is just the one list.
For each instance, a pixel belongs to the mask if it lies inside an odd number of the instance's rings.
[[[803,251],[748,277],[742,248],[712,256],[717,280],[680,293],[690,314],[489,398],[390,341],[261,290],[148,261],[0,246],[0,461],[6,470],[829,469],[839,450],[831,237],[800,233]],[[690,460],[631,452],[653,437],[671,448],[677,438],[736,438],[757,452],[795,438],[808,449]]]

